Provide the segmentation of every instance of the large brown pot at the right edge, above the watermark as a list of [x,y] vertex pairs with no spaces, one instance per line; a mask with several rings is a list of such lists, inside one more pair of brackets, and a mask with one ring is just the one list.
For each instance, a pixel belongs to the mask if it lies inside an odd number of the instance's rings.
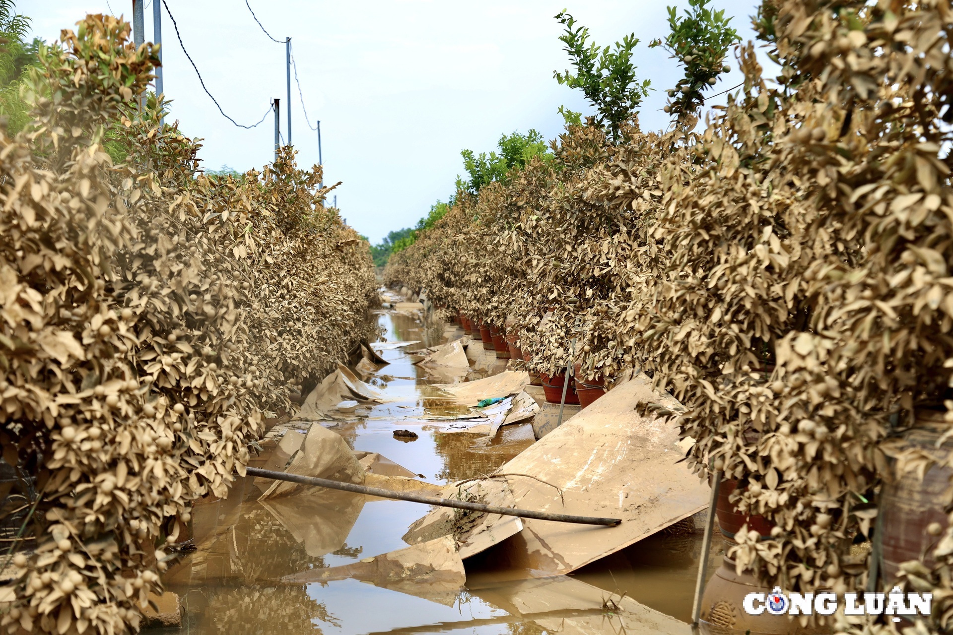
[[947,440],[937,447],[937,441],[950,424],[943,421],[943,412],[921,410],[917,412],[915,427],[903,434],[903,441],[933,455],[937,463],[923,474],[923,481],[915,471],[906,472],[890,483],[884,483],[881,491],[882,528],[882,577],[887,585],[896,582],[900,564],[907,560],[920,560],[926,551],[923,564],[933,566],[932,549],[938,538],[926,533],[926,526],[939,523],[946,530],[949,524],[943,507],[944,492],[949,487],[953,470],[944,466],[953,441]]

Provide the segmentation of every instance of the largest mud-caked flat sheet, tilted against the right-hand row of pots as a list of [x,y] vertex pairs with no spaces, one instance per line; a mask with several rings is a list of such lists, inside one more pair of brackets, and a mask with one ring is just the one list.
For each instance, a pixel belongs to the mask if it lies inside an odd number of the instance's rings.
[[664,400],[644,376],[631,379],[501,466],[500,474],[528,474],[549,484],[508,476],[517,507],[622,523],[594,527],[525,519],[497,558],[529,577],[569,573],[707,507],[708,485],[676,464],[685,443],[679,446],[677,428],[636,412],[639,403]]

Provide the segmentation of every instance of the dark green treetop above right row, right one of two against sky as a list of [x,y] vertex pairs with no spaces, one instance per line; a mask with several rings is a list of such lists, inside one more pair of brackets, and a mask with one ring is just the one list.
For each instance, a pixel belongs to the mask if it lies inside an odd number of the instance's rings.
[[685,76],[674,89],[668,91],[671,99],[666,112],[678,115],[683,123],[694,126],[696,113],[704,103],[702,92],[715,86],[722,72],[731,70],[724,65],[730,47],[739,41],[738,31],[731,29],[731,18],[724,10],[708,8],[711,0],[688,0],[689,10],[684,17],[675,7],[668,8],[669,34],[664,42],[653,41],[649,47],[663,46],[685,68]]

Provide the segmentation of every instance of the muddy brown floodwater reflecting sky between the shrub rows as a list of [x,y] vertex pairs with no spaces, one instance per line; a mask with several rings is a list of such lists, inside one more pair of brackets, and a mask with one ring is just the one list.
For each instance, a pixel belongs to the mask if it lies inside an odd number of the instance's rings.
[[[419,340],[418,346],[435,346],[454,336],[449,329],[424,327],[412,314],[384,311],[378,320],[392,342]],[[328,427],[353,449],[379,452],[441,486],[488,474],[534,443],[529,424],[501,427],[490,440],[400,421],[408,414],[427,413],[423,398],[436,382],[401,349],[379,354],[389,364],[365,375],[365,381],[401,399],[369,413],[358,410],[353,421],[311,425]],[[302,423],[299,429],[307,426]],[[396,439],[394,431],[402,427],[412,428],[416,440]],[[266,444],[253,465],[263,466],[270,451]],[[429,507],[328,490],[259,503],[261,493],[254,479],[239,479],[227,499],[195,506],[196,549],[165,576],[166,588],[179,594],[184,607],[183,626],[176,632],[643,632],[614,610],[623,594],[690,622],[702,540],[697,533],[660,532],[571,575],[546,579],[499,566],[491,547],[464,561],[466,586],[452,592],[393,581],[291,583],[286,579],[295,574],[355,565],[406,547],[402,536]],[[720,550],[716,539],[709,574],[720,562]]]

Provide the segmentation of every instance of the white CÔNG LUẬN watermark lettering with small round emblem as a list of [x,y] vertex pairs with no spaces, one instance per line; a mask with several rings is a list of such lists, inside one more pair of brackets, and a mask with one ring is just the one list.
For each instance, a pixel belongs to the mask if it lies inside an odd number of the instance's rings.
[[[843,594],[844,615],[929,615],[933,602],[932,593],[904,593],[894,586],[889,593],[863,593],[858,603],[858,593]],[[841,601],[835,593],[784,593],[775,586],[770,593],[748,593],[742,604],[744,612],[760,615],[833,615]],[[899,617],[893,618],[900,622]]]

